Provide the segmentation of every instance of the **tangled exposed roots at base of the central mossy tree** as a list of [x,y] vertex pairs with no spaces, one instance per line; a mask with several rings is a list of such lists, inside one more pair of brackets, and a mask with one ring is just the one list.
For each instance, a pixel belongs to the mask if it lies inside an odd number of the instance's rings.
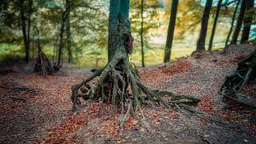
[[[97,78],[97,82],[90,84],[94,78]],[[164,96],[170,96],[170,102],[167,102]],[[199,102],[198,98],[192,96],[178,96],[168,91],[152,90],[144,86],[138,76],[138,71],[131,66],[122,51],[117,51],[104,69],[95,70],[89,78],[72,87],[71,99],[74,103],[74,110],[79,109],[80,97],[86,100],[101,99],[103,102],[121,106],[122,113],[130,106],[130,102],[132,103],[131,110],[137,110],[141,104],[147,106],[163,104],[170,107],[174,106],[174,103],[193,105]]]

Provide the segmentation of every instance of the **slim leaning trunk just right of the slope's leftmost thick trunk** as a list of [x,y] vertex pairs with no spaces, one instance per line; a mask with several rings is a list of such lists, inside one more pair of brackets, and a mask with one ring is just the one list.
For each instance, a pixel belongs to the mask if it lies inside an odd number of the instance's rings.
[[213,30],[211,31],[211,34],[210,34],[210,42],[209,42],[208,51],[212,50],[213,41],[214,41],[214,34],[215,34],[217,22],[218,22],[218,14],[219,14],[219,10],[221,9],[221,6],[222,6],[222,0],[218,0],[218,6],[217,6],[217,9],[216,9],[216,14],[215,14],[215,18],[214,18],[214,26],[213,26]]

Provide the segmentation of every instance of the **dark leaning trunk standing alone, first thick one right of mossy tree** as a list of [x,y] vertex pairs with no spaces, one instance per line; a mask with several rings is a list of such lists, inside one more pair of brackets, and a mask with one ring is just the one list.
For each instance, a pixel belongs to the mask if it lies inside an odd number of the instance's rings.
[[170,22],[168,26],[168,34],[166,39],[166,50],[165,50],[164,62],[170,62],[170,52],[171,52],[171,46],[173,44],[173,39],[174,39],[174,28],[175,28],[175,22],[176,22],[177,9],[178,9],[178,0],[173,0],[171,5]]

